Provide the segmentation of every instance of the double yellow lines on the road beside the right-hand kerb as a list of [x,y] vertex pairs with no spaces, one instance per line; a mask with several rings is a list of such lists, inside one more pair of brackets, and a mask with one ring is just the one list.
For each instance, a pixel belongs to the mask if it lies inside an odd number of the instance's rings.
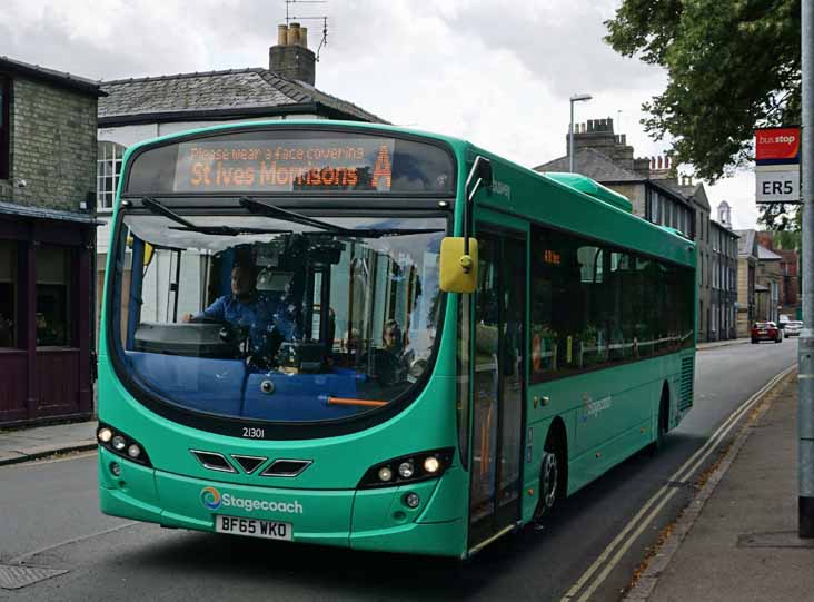
[[[709,436],[709,438],[689,458],[682,464],[682,466],[673,473],[673,475],[667,478],[667,482],[678,482],[678,483],[686,483],[686,481],[695,473],[695,471],[704,463],[704,461],[709,456],[711,453],[715,451],[718,443],[729,433],[729,431],[737,424],[737,422],[743,417],[743,415],[748,412],[748,409],[761,398],[763,395],[765,395],[774,385],[776,385],[782,378],[787,376],[794,368],[796,367],[796,364],[791,365],[785,371],[781,372],[780,374],[775,375],[768,383],[766,383],[763,387],[761,387],[756,393],[754,393],[748,399],[746,399],[743,404],[741,404],[735,411],[733,411],[732,414],[724,421],[724,423]],[[702,456],[699,460],[698,457]],[[696,462],[697,460],[697,462]],[[683,475],[683,476],[681,476]],[[681,476],[681,477],[679,477]],[[669,491],[669,492],[668,492]],[[594,591],[605,581],[607,575],[610,573],[610,571],[618,564],[619,560],[624,555],[624,553],[633,545],[633,543],[638,539],[638,536],[642,534],[642,531],[645,529],[647,524],[649,524],[653,519],[658,514],[658,512],[664,507],[664,505],[675,495],[677,492],[676,488],[668,487],[667,485],[662,486],[643,506],[642,509],[636,513],[636,515],[631,519],[631,521],[625,525],[625,527],[619,532],[616,537],[603,550],[602,554],[594,561],[594,563],[588,566],[587,571],[583,573],[583,575],[574,583],[574,585],[570,586],[570,589],[566,592],[566,594],[562,598],[560,602],[568,602],[573,600],[577,593],[586,585],[588,580],[596,573],[596,571],[599,570],[602,564],[610,556],[613,551],[622,543],[622,541],[625,539],[625,536],[633,530],[636,524],[639,522],[639,519],[649,510],[649,507],[655,504],[664,494],[665,492],[668,492],[666,497],[662,500],[662,502],[654,509],[653,512],[651,512],[647,517],[642,521],[642,524],[633,532],[631,537],[625,542],[625,544],[622,546],[622,549],[613,556],[608,565],[597,575],[594,583],[592,583],[590,588],[579,598],[579,602],[583,602],[587,600]]]

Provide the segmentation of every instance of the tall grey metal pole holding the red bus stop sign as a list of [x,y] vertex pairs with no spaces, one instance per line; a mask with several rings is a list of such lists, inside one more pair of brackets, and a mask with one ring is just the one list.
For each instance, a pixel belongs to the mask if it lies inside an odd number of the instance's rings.
[[803,332],[797,346],[798,535],[814,539],[814,2],[802,2]]

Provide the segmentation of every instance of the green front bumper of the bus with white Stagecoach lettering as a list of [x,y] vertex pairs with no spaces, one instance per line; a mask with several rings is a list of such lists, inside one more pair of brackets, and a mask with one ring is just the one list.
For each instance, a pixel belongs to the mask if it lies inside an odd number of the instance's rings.
[[[105,514],[207,532],[219,515],[279,521],[291,525],[294,542],[455,557],[466,546],[466,523],[453,510],[459,476],[369,491],[258,487],[148,468],[99,448]],[[417,509],[405,503],[409,492],[421,500]]]

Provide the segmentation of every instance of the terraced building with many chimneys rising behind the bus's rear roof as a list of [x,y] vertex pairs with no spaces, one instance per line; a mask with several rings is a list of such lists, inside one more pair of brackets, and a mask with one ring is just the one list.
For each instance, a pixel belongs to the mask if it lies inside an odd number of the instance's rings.
[[[567,145],[566,135],[566,151]],[[534,169],[568,171],[569,155]],[[719,316],[734,314],[735,297],[731,294],[714,295],[711,208],[704,185],[677,176],[669,157],[634,158],[633,147],[624,134],[614,132],[610,118],[589,119],[575,126],[574,170],[625,195],[633,204],[634,214],[654,224],[675,228],[695,241],[698,253],[698,341],[734,335],[734,328],[722,332],[716,326],[713,332],[712,327]],[[713,297],[716,299],[714,310]]]

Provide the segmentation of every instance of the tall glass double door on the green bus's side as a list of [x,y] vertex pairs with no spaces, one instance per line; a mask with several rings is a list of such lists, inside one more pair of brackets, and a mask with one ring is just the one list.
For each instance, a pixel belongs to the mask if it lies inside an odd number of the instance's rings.
[[477,225],[469,547],[520,519],[526,235]]

